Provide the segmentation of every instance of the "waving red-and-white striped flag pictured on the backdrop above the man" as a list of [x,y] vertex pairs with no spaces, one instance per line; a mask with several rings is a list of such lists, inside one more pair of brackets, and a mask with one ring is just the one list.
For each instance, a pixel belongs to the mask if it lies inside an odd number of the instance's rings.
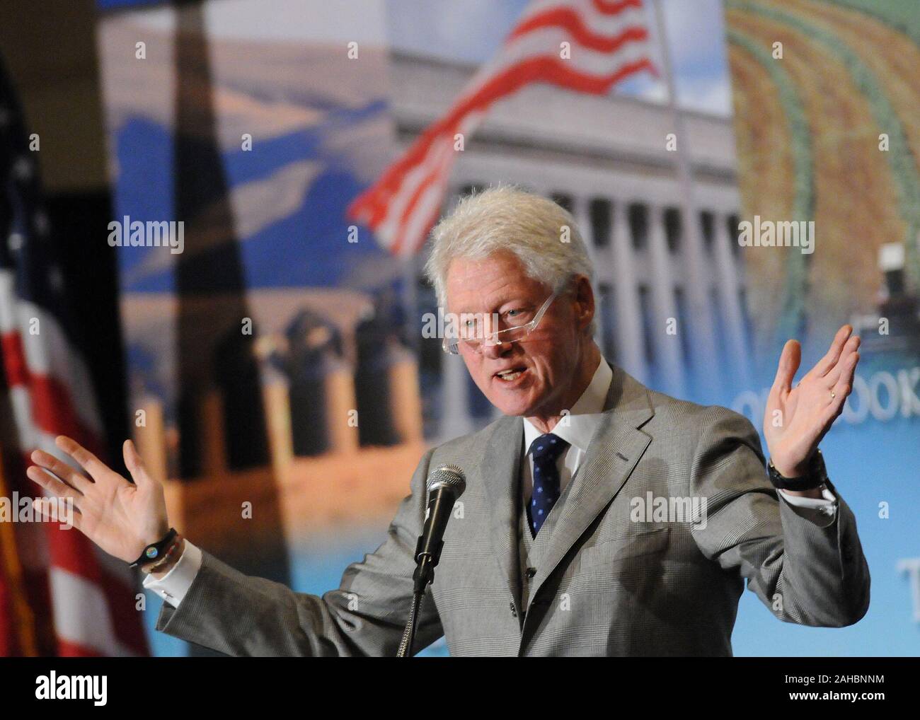
[[351,203],[349,218],[393,254],[417,252],[441,213],[455,135],[468,139],[493,102],[531,83],[604,95],[630,75],[657,74],[645,23],[642,0],[535,0],[451,109]]

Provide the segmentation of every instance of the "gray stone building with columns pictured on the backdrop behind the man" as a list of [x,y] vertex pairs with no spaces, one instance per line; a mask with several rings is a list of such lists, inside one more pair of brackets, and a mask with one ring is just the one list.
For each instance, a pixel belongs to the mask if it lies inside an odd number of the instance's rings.
[[[449,108],[475,67],[392,56],[401,148]],[[528,86],[489,110],[466,139],[443,210],[498,182],[557,200],[593,256],[604,356],[655,389],[725,402],[732,387],[750,382],[734,139],[730,118],[685,111],[684,127],[688,137],[676,141],[689,154],[695,234],[686,232],[666,107],[554,86]],[[424,260],[423,252],[407,269],[415,277],[407,303],[418,317],[436,311],[421,280]],[[426,436],[447,440],[489,421],[494,411],[463,361],[443,356],[433,340],[420,343]]]

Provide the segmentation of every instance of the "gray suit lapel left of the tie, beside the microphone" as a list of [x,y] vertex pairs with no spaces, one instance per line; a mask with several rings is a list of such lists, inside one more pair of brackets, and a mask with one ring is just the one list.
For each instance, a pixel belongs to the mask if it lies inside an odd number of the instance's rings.
[[521,605],[518,572],[518,500],[521,476],[523,421],[520,417],[501,417],[489,437],[479,465],[482,485],[489,499],[489,536],[515,607]]

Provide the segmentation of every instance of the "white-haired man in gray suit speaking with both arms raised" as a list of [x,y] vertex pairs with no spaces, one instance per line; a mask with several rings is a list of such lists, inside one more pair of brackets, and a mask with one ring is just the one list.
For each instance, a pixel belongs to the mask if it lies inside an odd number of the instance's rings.
[[[339,589],[320,598],[247,577],[170,531],[163,487],[130,440],[134,485],[69,438],[58,446],[86,475],[32,454],[29,477],[74,499],[75,527],[148,573],[165,600],[158,630],[229,655],[395,656],[425,480],[444,464],[466,474],[463,512],[444,531],[416,647],[443,635],[455,656],[727,656],[745,579],[788,623],[863,617],[856,520],[818,451],[850,392],[852,328],[795,387],[799,344],[783,349],[767,464],[741,415],[657,393],[604,360],[592,264],[557,204],[489,189],[432,235],[429,277],[463,321],[443,347],[503,417],[425,452],[385,542]],[[646,498],[705,512],[675,519]]]

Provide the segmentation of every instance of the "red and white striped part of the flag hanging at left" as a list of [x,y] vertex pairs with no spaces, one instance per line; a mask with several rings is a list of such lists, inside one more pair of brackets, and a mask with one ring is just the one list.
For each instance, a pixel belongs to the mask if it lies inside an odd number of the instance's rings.
[[[37,332],[35,330],[37,329]],[[17,296],[13,273],[0,269],[0,355],[23,467],[36,448],[69,461],[54,438],[69,435],[99,452],[103,430],[86,363],[53,314]],[[20,487],[40,487],[24,479]],[[75,529],[42,522],[19,529],[23,570],[47,584],[56,652],[66,657],[142,656],[147,642],[135,610],[130,569]]]

